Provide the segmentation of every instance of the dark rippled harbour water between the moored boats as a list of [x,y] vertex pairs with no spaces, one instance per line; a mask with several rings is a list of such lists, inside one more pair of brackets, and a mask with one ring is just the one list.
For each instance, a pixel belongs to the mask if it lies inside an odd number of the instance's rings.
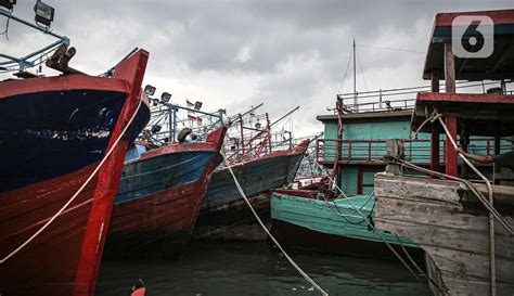
[[[288,253],[330,295],[431,295],[397,261]],[[129,295],[137,279],[149,296],[319,295],[267,243],[192,242],[178,260],[104,260],[95,295]]]

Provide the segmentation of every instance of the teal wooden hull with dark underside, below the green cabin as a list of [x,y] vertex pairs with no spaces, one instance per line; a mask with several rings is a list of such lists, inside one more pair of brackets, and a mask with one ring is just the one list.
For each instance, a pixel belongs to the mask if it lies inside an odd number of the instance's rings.
[[[348,197],[368,218],[364,220],[346,198],[325,202],[317,200],[314,191],[278,190],[271,196],[273,232],[285,245],[317,252],[359,257],[395,259],[383,243],[382,235],[394,247],[401,247],[391,233],[375,233],[373,223],[374,198]],[[423,252],[411,241],[400,237],[409,254],[423,261]],[[396,245],[396,246],[395,246]]]

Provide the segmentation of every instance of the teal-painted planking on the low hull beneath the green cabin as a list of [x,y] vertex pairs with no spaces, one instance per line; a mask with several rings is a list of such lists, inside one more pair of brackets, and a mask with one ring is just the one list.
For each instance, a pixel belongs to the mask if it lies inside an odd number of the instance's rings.
[[[360,211],[374,219],[374,197],[348,197]],[[357,213],[346,198],[325,202],[313,198],[297,197],[273,193],[271,196],[271,218],[298,227],[326,234],[342,235],[350,239],[382,242],[381,236],[391,244],[398,244],[394,234],[369,229],[365,220]],[[344,216],[344,217],[340,217]],[[381,236],[378,236],[381,235]],[[419,247],[412,241],[399,236],[401,243],[409,247]]]

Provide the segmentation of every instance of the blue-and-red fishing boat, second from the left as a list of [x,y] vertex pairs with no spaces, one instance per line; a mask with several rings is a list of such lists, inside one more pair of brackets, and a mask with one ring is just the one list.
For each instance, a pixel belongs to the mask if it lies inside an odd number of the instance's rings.
[[226,128],[205,142],[168,143],[146,151],[133,147],[116,195],[106,257],[176,258],[189,242]]

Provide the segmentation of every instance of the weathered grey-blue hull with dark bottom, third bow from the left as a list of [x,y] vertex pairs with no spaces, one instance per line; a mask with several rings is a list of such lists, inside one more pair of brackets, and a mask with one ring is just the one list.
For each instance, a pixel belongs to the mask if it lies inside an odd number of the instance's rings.
[[[243,191],[269,222],[271,190],[292,183],[309,142],[287,151],[267,154],[232,167]],[[262,241],[260,227],[235,186],[227,168],[217,169],[207,189],[193,239]]]

